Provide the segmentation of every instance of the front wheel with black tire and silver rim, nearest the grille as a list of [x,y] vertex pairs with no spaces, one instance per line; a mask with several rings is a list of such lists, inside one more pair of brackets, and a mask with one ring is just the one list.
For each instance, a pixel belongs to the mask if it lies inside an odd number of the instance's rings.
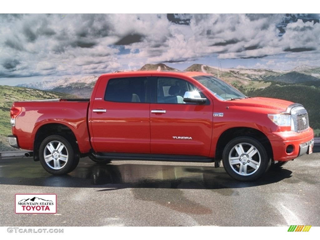
[[269,168],[270,161],[262,144],[251,137],[237,137],[223,150],[222,163],[226,172],[236,180],[252,181]]

